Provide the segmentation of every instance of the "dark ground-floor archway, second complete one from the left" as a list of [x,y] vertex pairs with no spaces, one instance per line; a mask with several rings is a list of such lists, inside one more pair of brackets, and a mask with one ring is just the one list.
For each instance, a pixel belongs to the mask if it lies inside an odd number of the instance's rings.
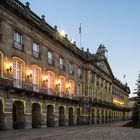
[[32,128],[39,128],[41,124],[41,107],[38,103],[32,104]]

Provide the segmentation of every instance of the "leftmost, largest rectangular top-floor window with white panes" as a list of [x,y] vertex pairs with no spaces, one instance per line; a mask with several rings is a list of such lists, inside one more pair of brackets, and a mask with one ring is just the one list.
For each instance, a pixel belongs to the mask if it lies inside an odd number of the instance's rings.
[[14,32],[14,47],[19,50],[23,50],[22,40],[23,40],[22,34],[15,31]]

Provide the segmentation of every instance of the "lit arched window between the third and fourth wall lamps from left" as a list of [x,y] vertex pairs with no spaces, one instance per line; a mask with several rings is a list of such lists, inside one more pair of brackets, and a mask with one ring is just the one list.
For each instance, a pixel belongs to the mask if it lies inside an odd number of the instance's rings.
[[55,74],[52,71],[47,72],[48,82],[47,82],[47,88],[48,88],[48,94],[52,94],[52,91],[55,88]]

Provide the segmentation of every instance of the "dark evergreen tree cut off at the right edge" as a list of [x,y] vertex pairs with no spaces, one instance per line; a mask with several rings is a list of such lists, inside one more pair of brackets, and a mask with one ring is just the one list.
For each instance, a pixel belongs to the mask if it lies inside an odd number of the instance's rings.
[[140,127],[140,73],[138,74],[138,80],[136,83],[136,102],[133,108],[133,122],[136,127]]

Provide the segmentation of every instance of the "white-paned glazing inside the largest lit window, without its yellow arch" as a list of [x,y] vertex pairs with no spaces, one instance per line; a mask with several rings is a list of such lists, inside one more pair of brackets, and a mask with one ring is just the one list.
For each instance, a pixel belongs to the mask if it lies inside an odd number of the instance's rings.
[[22,88],[22,63],[14,60],[14,87]]

